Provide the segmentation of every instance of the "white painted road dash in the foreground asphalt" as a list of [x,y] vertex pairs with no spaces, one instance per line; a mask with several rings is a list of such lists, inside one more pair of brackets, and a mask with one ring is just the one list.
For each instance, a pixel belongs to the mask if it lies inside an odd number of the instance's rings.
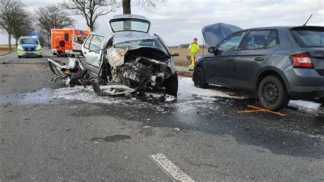
[[167,157],[159,153],[157,155],[150,155],[152,159],[167,176],[176,179],[176,181],[193,181],[185,172],[172,163]]

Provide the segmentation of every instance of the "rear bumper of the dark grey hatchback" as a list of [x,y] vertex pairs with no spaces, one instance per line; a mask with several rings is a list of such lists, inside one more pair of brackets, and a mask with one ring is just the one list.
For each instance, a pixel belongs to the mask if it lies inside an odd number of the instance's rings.
[[292,69],[286,75],[289,83],[288,94],[294,99],[324,98],[324,76],[314,69]]

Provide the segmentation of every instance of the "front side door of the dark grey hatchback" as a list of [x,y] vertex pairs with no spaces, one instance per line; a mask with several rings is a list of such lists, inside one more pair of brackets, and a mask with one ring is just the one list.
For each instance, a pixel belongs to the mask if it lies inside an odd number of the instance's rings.
[[233,60],[245,32],[240,31],[223,40],[215,50],[214,56],[208,57],[206,66],[206,81],[208,83],[232,84]]

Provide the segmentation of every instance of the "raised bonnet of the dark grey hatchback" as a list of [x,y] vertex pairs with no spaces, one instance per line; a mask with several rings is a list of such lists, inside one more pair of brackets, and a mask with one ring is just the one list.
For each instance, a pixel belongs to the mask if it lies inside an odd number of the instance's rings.
[[241,28],[226,24],[226,23],[215,23],[213,25],[206,25],[202,28],[202,36],[206,42],[207,47],[215,47],[221,40],[224,40],[230,34],[235,31],[240,31]]

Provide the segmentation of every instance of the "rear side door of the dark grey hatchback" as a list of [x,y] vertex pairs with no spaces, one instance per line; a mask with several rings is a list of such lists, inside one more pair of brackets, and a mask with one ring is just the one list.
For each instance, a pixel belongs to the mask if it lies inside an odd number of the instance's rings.
[[242,40],[233,62],[233,85],[254,88],[254,82],[262,65],[278,49],[275,29],[249,31]]

